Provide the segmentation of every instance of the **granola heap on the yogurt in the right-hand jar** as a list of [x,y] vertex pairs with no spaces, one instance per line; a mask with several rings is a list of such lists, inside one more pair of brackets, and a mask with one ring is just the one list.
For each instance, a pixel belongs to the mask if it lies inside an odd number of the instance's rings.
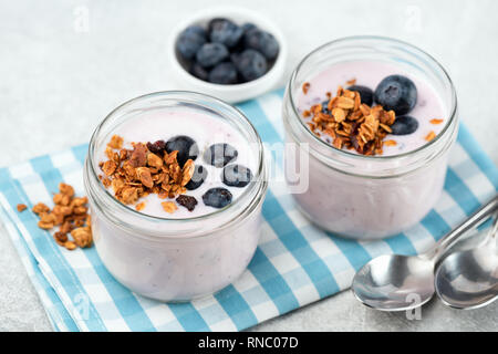
[[315,104],[303,112],[304,117],[311,117],[308,126],[314,134],[326,134],[332,137],[334,147],[355,149],[363,155],[381,155],[383,145],[396,144],[384,140],[396,119],[394,111],[361,103],[359,92],[342,86],[334,97],[330,93],[328,96],[326,107]]

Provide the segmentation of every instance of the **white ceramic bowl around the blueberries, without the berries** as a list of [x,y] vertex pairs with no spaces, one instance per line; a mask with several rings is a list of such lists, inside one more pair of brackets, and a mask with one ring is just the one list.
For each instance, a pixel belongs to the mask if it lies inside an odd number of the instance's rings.
[[[273,65],[263,76],[242,84],[219,85],[197,79],[181,66],[175,48],[179,33],[190,24],[199,24],[207,28],[209,20],[214,18],[227,18],[237,24],[251,22],[261,30],[273,34],[279,42],[280,51]],[[280,29],[271,20],[243,8],[214,8],[203,10],[203,12],[185,19],[172,32],[168,50],[172,72],[175,75],[178,88],[205,93],[230,103],[250,100],[274,88],[283,75],[287,61],[287,43]]]

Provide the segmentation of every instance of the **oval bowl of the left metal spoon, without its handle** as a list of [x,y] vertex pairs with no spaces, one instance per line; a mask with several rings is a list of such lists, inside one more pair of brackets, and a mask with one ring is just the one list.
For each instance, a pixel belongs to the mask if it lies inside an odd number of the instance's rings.
[[360,269],[352,289],[357,300],[373,309],[415,309],[434,294],[434,263],[416,256],[381,256]]

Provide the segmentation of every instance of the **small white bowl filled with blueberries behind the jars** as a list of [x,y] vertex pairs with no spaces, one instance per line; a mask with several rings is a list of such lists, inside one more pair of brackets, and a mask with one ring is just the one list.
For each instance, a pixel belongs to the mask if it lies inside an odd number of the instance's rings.
[[280,29],[271,20],[232,7],[185,19],[172,32],[169,48],[170,72],[179,88],[230,103],[276,87],[288,52]]

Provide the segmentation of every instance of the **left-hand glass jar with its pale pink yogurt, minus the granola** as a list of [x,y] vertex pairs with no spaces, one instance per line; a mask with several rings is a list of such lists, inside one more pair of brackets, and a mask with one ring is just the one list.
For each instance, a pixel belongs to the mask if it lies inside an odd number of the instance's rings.
[[[179,142],[172,145],[177,149],[185,140],[193,142],[188,157],[203,174],[181,195],[195,198],[194,207],[179,204],[177,196],[155,192],[143,194],[129,205],[120,201],[113,187],[102,183],[106,178],[102,162],[107,159],[112,136],[122,138],[128,152],[137,143],[153,149],[151,144],[158,140],[167,142],[166,146]],[[225,158],[221,163],[209,154],[215,145],[230,148],[217,150]],[[250,178],[227,181],[237,171],[234,166]],[[214,293],[236,280],[256,251],[267,179],[261,139],[235,107],[193,92],[159,92],[131,100],[96,128],[85,162],[84,183],[98,256],[116,280],[152,299],[188,301]],[[165,201],[175,206],[172,212],[163,207]]]

